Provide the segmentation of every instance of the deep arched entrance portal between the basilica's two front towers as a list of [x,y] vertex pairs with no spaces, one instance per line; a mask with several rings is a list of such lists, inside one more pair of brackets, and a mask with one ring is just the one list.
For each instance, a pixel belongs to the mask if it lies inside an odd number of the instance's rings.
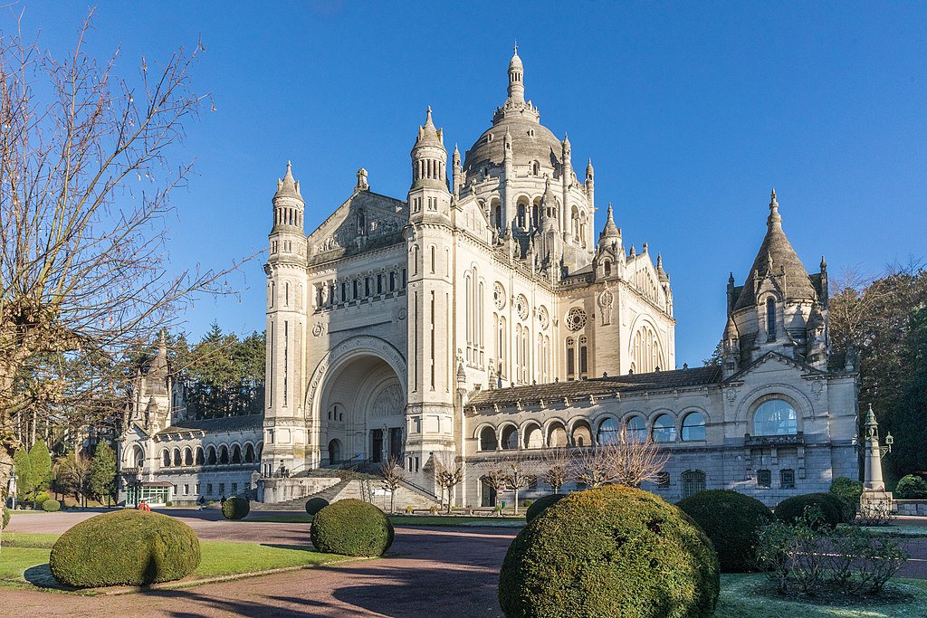
[[402,461],[405,406],[400,376],[385,359],[355,353],[336,361],[315,410],[319,444],[327,445],[322,465]]

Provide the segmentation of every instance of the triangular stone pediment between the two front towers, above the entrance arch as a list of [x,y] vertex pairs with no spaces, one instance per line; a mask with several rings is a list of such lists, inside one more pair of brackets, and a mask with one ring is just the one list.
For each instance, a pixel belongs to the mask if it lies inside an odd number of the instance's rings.
[[355,191],[309,234],[310,260],[358,253],[402,240],[409,221],[405,202],[370,191]]

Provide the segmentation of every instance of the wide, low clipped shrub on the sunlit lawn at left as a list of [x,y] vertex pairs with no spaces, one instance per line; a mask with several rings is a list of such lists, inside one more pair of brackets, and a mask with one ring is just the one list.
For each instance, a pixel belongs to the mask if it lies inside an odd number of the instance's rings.
[[74,587],[170,582],[197,568],[199,539],[168,515],[108,512],[58,537],[48,562],[55,579]]

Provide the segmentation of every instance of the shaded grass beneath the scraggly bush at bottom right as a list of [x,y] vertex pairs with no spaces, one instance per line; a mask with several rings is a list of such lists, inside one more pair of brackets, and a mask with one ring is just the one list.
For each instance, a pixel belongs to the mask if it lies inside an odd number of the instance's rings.
[[848,598],[840,605],[818,605],[777,598],[762,591],[762,574],[722,574],[714,618],[923,618],[927,616],[927,582],[893,579],[887,597]]

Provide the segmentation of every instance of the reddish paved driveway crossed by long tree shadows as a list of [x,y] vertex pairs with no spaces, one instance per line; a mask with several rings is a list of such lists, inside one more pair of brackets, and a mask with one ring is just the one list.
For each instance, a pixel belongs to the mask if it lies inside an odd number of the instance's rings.
[[[226,522],[218,511],[167,511],[202,540],[268,545],[309,542],[307,523]],[[60,533],[95,513],[18,513],[14,532]],[[261,515],[282,513],[261,513]],[[292,513],[286,513],[292,514]],[[927,525],[899,518],[901,525]],[[517,529],[400,527],[384,558],[249,577],[181,589],[83,597],[4,589],[18,615],[57,616],[392,616],[502,618],[499,568]],[[912,558],[899,576],[927,579],[927,539],[906,541]]]

